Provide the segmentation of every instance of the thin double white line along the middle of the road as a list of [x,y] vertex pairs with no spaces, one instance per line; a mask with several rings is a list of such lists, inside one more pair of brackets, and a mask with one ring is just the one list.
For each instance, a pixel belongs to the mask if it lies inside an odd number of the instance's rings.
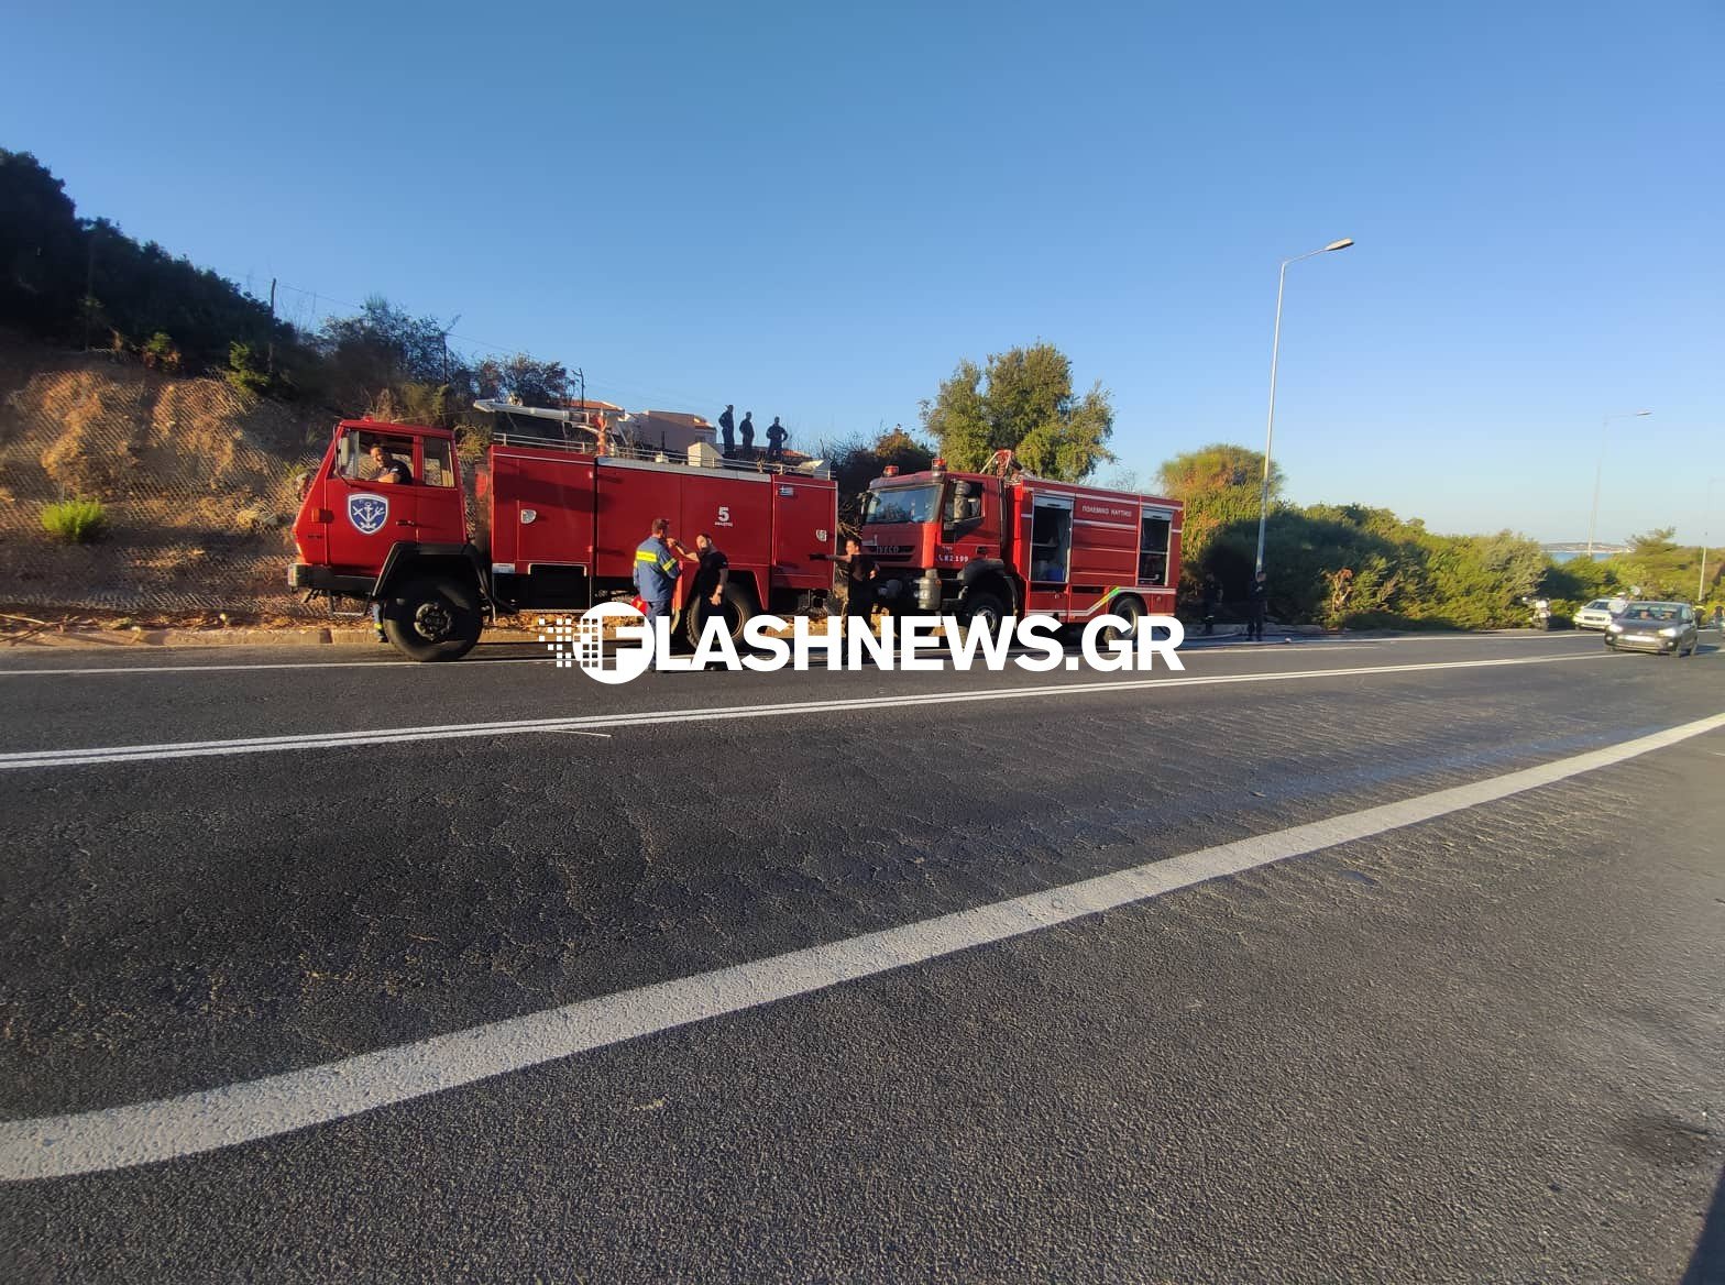
[[290,737],[245,737],[238,740],[190,740],[164,745],[110,745],[72,750],[12,750],[0,754],[0,771],[24,768],[81,768],[109,762],[155,762],[162,759],[202,759],[228,754],[274,754],[281,750],[342,749],[352,745],[392,745],[423,740],[461,740],[471,737],[514,737],[530,731],[640,728],[656,723],[716,723],[745,718],[783,718],[790,714],[830,714],[854,709],[900,709],[911,705],[957,705],[976,700],[1028,700],[1037,697],[1076,697],[1095,693],[1144,692],[1149,688],[1213,686],[1220,683],[1287,683],[1294,680],[1361,678],[1370,674],[1411,674],[1435,669],[1489,669],[1521,664],[1559,664],[1597,661],[1597,655],[1527,655],[1497,661],[1423,661],[1418,664],[1354,666],[1351,669],[1275,669],[1261,674],[1208,674],[1178,678],[1138,678],[1099,683],[1061,683],[1042,686],[1004,686],[968,692],[923,692],[849,700],[787,700],[768,705],[716,705],[712,709],[661,709],[623,714],[586,714],[580,718],[535,718],[504,723],[450,723],[424,728],[376,728],[367,731],[309,731]]

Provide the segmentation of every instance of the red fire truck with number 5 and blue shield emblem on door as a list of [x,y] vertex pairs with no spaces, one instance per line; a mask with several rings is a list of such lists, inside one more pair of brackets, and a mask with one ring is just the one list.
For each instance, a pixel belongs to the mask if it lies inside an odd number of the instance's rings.
[[[630,599],[635,547],[654,517],[669,517],[690,547],[707,531],[724,550],[733,635],[757,611],[819,611],[831,588],[838,500],[819,462],[737,464],[707,445],[674,461],[650,448],[504,433],[476,483],[478,536],[454,433],[343,419],[307,480],[288,585],[357,600],[416,661],[466,655],[504,612]],[[685,574],[678,623],[699,636],[700,612],[683,611],[688,583]]]

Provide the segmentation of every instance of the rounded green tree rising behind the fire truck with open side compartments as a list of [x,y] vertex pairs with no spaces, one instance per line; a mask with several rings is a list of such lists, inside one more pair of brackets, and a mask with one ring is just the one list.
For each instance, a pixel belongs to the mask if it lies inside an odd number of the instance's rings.
[[987,369],[959,362],[923,402],[923,428],[954,469],[1013,450],[1032,473],[1080,481],[1114,459],[1109,395],[1095,383],[1075,397],[1071,360],[1052,343],[994,354]]

